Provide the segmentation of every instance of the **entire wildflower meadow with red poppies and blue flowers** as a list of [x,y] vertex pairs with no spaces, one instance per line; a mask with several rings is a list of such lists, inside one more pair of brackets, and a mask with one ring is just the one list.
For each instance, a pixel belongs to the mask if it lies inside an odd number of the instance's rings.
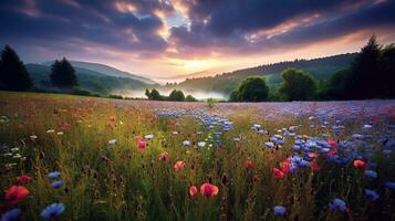
[[1,92],[1,221],[389,221],[394,150],[395,101]]

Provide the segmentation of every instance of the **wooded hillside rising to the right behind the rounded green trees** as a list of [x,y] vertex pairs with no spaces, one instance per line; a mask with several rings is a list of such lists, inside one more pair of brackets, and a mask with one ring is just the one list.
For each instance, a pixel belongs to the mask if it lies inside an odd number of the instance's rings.
[[259,65],[254,67],[217,74],[215,76],[191,77],[180,82],[176,86],[171,85],[170,87],[186,90],[189,93],[199,91],[229,94],[246,76],[259,75],[266,77],[269,87],[276,88],[282,82],[281,72],[288,67],[304,70],[309,72],[316,81],[326,80],[334,72],[350,66],[355,55],[356,53],[347,53],[313,60],[295,60]]

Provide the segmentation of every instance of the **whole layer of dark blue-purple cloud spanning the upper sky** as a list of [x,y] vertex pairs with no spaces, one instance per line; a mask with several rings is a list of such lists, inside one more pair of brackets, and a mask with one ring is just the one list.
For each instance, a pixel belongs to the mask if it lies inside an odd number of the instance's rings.
[[[158,31],[166,21],[158,12],[175,13],[175,1],[0,1],[0,43],[23,46],[33,55],[37,49],[79,53],[97,46],[146,59],[164,53],[258,53],[372,28],[395,32],[394,0],[177,0],[187,8],[189,24],[173,27],[164,39]],[[119,10],[116,3],[132,3],[133,10]],[[289,23],[293,27],[287,28]],[[287,30],[271,32],[280,25]],[[253,41],[251,35],[257,35]],[[167,53],[169,48],[177,52]]]

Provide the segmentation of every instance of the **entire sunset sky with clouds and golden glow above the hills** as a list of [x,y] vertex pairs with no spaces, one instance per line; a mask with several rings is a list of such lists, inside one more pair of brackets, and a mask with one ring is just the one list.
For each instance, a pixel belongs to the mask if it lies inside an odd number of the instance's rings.
[[152,78],[356,52],[395,42],[395,0],[4,0],[0,44]]

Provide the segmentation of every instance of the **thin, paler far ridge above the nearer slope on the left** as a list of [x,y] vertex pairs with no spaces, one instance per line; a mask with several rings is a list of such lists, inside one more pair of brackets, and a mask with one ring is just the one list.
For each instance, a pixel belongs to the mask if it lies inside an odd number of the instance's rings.
[[[53,61],[50,62],[44,62],[43,65],[50,66],[52,65]],[[96,73],[101,73],[104,75],[108,75],[108,76],[115,76],[115,77],[128,77],[128,78],[133,78],[133,80],[138,80],[141,82],[144,82],[146,84],[156,84],[156,82],[154,82],[150,78],[147,77],[143,77],[143,76],[138,76],[138,75],[134,75],[131,74],[128,72],[124,72],[124,71],[119,71],[115,67],[105,65],[105,64],[98,64],[98,63],[91,63],[91,62],[81,62],[81,61],[70,61],[70,63],[73,65],[73,67],[80,67],[80,69],[84,69],[84,70],[90,70]]]

